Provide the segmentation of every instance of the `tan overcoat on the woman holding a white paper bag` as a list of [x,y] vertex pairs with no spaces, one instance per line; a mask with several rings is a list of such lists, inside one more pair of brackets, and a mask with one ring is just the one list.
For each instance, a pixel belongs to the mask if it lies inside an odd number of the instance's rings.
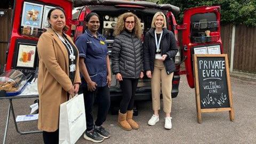
[[[69,36],[67,38],[73,43]],[[68,52],[50,28],[39,37],[37,51],[39,57],[38,129],[54,132],[59,128],[60,104],[67,101],[67,91],[73,86],[69,78]],[[78,61],[77,55],[74,83],[81,83]]]

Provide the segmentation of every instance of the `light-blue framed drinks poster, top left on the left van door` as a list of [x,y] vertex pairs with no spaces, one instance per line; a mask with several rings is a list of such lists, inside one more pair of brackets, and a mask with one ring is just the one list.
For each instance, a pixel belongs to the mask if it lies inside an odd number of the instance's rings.
[[41,28],[43,5],[24,2],[21,26]]

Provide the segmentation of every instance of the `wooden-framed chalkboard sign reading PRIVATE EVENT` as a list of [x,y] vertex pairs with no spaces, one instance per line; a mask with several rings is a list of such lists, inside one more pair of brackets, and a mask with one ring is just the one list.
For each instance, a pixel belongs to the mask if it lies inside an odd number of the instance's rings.
[[194,54],[198,123],[201,113],[229,111],[234,120],[227,54]]

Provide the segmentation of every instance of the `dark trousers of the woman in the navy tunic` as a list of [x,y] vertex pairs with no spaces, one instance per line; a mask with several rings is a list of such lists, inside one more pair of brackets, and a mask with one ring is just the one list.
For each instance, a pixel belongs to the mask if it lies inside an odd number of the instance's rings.
[[87,87],[83,90],[84,93],[84,105],[85,105],[85,115],[86,115],[86,131],[91,131],[93,129],[93,103],[94,98],[98,102],[98,114],[95,121],[95,125],[101,126],[103,122],[106,121],[108,114],[108,109],[110,106],[110,94],[109,87],[97,87],[93,92],[87,90]]

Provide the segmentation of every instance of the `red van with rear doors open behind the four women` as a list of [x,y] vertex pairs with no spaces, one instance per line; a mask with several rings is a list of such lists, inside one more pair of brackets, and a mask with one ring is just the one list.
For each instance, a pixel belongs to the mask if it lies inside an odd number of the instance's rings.
[[[85,30],[85,17],[90,12],[96,12],[100,16],[99,33],[106,37],[106,42],[110,52],[113,44],[113,31],[116,25],[118,15],[125,12],[133,12],[141,20],[143,34],[151,26],[151,20],[156,12],[162,11],[166,15],[167,29],[173,31],[179,52],[175,56],[176,70],[173,77],[172,97],[175,98],[179,92],[180,75],[186,74],[188,84],[194,87],[193,76],[193,59],[194,53],[211,54],[222,53],[222,43],[220,38],[220,6],[202,6],[188,9],[184,13],[184,21],[182,25],[177,25],[174,14],[179,13],[179,7],[163,4],[158,5],[151,2],[143,1],[97,1],[97,0],[17,0],[15,1],[14,18],[12,27],[11,44],[7,57],[6,70],[14,68],[19,69],[25,75],[28,73],[36,74],[38,56],[36,52],[36,43],[38,37],[43,33],[47,25],[45,21],[47,10],[54,6],[60,6],[66,11],[67,25],[71,28],[71,24],[76,25],[74,31],[74,39],[81,35]],[[72,20],[72,6],[79,7],[76,15],[76,21]],[[33,8],[34,7],[34,8]],[[32,18],[38,11],[36,19]],[[36,13],[38,13],[36,12]],[[40,15],[41,14],[41,15]],[[35,23],[35,21],[37,23]],[[182,30],[182,45],[179,44],[178,30]],[[67,31],[71,35],[71,30]],[[33,51],[30,54],[30,61],[22,59],[22,54],[28,53],[27,50]],[[33,53],[33,52],[32,52]],[[28,61],[28,60],[27,60]],[[180,70],[180,64],[185,61],[186,70]],[[113,82],[110,89],[111,100],[121,98],[121,90],[119,83],[113,76]],[[140,79],[135,95],[135,100],[150,100],[151,88],[150,79]]]

